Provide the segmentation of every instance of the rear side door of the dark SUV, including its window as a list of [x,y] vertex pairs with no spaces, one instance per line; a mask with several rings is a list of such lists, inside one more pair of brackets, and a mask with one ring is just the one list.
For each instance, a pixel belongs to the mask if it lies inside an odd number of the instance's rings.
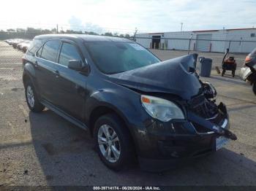
[[35,69],[39,93],[43,99],[56,104],[56,79],[58,78],[57,55],[61,41],[50,39],[36,53]]

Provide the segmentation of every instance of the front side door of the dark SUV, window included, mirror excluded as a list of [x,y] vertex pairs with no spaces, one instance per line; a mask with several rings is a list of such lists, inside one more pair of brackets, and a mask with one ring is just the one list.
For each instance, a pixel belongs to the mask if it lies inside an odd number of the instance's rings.
[[65,113],[83,120],[86,98],[86,76],[68,68],[70,60],[84,61],[83,55],[75,42],[61,40],[58,59],[59,78],[56,81],[56,105]]

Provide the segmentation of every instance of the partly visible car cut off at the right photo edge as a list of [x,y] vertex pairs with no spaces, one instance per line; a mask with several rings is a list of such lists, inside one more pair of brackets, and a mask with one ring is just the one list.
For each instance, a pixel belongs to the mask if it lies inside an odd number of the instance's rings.
[[256,48],[246,56],[240,77],[252,85],[252,91],[256,95]]

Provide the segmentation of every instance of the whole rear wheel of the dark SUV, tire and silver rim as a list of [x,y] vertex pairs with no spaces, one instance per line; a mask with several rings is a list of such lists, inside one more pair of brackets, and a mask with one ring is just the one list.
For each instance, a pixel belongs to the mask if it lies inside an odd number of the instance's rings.
[[31,81],[27,81],[25,84],[25,96],[26,96],[26,103],[29,106],[29,109],[32,112],[42,112],[43,109],[45,109],[45,106],[43,106],[38,98],[37,93],[34,90],[34,85],[31,83]]

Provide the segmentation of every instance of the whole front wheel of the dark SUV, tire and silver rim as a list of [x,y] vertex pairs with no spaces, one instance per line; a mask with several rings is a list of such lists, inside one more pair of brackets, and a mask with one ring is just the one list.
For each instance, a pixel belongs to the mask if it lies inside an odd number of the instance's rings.
[[102,162],[120,171],[135,159],[129,130],[116,114],[106,114],[95,122],[94,143]]

